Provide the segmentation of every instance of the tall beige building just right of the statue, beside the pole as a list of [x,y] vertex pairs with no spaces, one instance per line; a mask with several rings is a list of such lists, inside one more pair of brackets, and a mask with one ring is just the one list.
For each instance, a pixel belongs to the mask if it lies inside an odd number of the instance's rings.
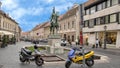
[[78,5],[75,4],[65,14],[61,15],[58,22],[58,33],[62,36],[61,38],[75,44],[75,40],[79,38],[80,32],[80,14],[78,11]]

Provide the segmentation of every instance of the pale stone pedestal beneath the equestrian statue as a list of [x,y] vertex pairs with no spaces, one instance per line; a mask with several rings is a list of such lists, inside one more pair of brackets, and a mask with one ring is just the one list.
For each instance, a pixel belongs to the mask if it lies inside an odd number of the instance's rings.
[[49,39],[48,39],[48,44],[50,45],[49,49],[47,48],[47,50],[51,53],[51,54],[63,54],[64,53],[64,49],[63,47],[61,47],[60,43],[61,43],[61,36],[60,35],[50,35]]

